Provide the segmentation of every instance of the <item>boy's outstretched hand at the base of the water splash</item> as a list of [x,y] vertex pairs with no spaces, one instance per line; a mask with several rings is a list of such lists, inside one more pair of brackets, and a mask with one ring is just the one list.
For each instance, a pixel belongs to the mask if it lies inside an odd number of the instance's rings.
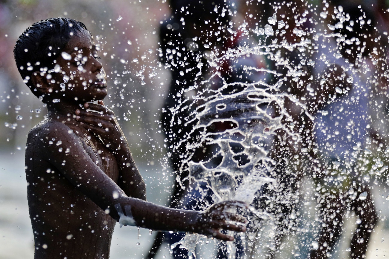
[[207,210],[200,212],[200,215],[193,226],[193,232],[212,236],[223,241],[233,241],[233,236],[222,234],[220,233],[220,230],[246,231],[246,226],[234,224],[232,221],[245,224],[247,223],[247,219],[239,214],[227,212],[228,209],[236,207],[246,209],[247,204],[239,201],[215,203]]

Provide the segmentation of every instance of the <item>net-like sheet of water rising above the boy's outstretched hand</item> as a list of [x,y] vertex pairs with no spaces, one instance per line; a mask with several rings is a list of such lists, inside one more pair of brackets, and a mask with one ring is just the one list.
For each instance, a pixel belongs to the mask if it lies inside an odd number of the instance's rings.
[[[295,141],[300,140],[296,130],[292,130],[285,123],[282,123],[281,118],[293,121],[293,118],[284,107],[285,98],[287,97],[295,105],[300,106],[305,114],[313,120],[313,116],[308,113],[304,103],[299,102],[295,96],[282,90],[285,80],[298,82],[302,76],[306,75],[306,72],[301,69],[301,66],[289,63],[289,60],[284,59],[281,53],[286,51],[302,53],[307,49],[312,49],[315,42],[320,42],[323,38],[337,36],[335,34],[315,33],[312,40],[301,38],[300,42],[294,42],[293,44],[287,41],[272,42],[269,45],[259,43],[255,46],[240,46],[235,49],[228,49],[223,56],[219,57],[210,54],[208,62],[210,67],[214,69],[210,79],[182,91],[182,94],[187,91],[195,91],[196,96],[188,98],[171,110],[173,114],[172,123],[177,121],[174,114],[187,109],[191,110],[191,116],[189,116],[191,119],[179,123],[182,123],[183,128],[189,124],[193,125],[191,123],[195,123],[195,127],[187,133],[187,138],[182,139],[175,148],[178,149],[181,145],[185,145],[186,150],[194,150],[204,145],[216,145],[218,148],[214,150],[208,161],[196,162],[192,160],[192,155],[188,152],[182,156],[184,161],[181,170],[188,170],[189,177],[196,181],[205,181],[215,194],[213,197],[215,202],[235,199],[250,204],[253,202],[254,194],[264,184],[276,184],[275,180],[270,177],[275,162],[268,156],[269,150],[266,147],[279,129],[284,130]],[[244,66],[243,73],[247,75],[262,73],[263,75],[272,75],[275,80],[271,85],[267,84],[263,78],[252,83],[226,83],[226,80],[221,78],[221,73],[218,73],[221,69],[219,64],[225,60],[236,61],[247,55],[267,56],[268,59],[275,62],[276,66],[284,68],[286,72],[280,74],[269,69]],[[308,63],[307,65],[312,66],[315,64],[312,61]],[[278,71],[281,71],[281,69]],[[215,78],[223,82],[223,85],[217,90],[208,89],[206,86],[211,85],[210,82]],[[310,87],[310,82],[304,82],[304,84],[304,89]],[[226,94],[226,89],[234,87],[234,85],[240,90],[232,94]],[[274,116],[275,106],[278,106],[279,113],[277,116]],[[272,113],[273,115],[271,115]],[[209,130],[212,125],[217,125],[217,123],[228,124],[230,127],[224,127],[225,129],[216,131]],[[198,134],[199,131],[198,141],[195,141],[195,143],[187,141],[193,137],[193,134]],[[212,164],[212,159],[217,160],[217,157],[220,158],[219,163]],[[256,211],[254,208],[251,208],[251,210],[257,214],[256,216],[268,219],[270,222],[268,224],[272,224],[273,215]],[[242,238],[245,238],[244,234],[242,234]],[[195,256],[196,245],[204,241],[204,236],[187,233],[184,240],[173,244],[172,248],[180,245],[189,251],[188,255],[192,258]],[[231,258],[235,255],[234,249],[234,244],[228,242]]]

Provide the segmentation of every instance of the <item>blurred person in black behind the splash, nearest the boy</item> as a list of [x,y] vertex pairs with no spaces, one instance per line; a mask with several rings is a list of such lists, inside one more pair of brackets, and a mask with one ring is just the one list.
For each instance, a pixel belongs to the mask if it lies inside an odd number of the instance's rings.
[[[161,62],[170,70],[170,86],[165,104],[161,113],[161,125],[166,136],[168,157],[176,175],[176,182],[170,201],[170,207],[202,210],[206,204],[212,204],[212,191],[206,183],[196,183],[189,179],[189,172],[183,163],[184,158],[191,156],[191,160],[208,161],[212,158],[215,146],[202,146],[199,149],[187,150],[187,142],[201,141],[200,132],[187,136],[195,125],[189,122],[191,112],[198,106],[198,100],[191,100],[196,95],[202,81],[209,80],[214,71],[210,68],[207,59],[211,51],[216,54],[233,46],[233,40],[226,34],[227,26],[231,21],[228,6],[223,0],[171,0],[171,16],[160,26],[160,54]],[[233,80],[234,73],[229,73],[228,63],[219,64],[222,71],[221,78]],[[205,87],[217,89],[223,82],[220,78],[209,80]],[[194,87],[193,87],[194,86]],[[189,87],[192,90],[188,90]],[[202,86],[204,87],[204,86]],[[201,88],[201,87],[200,87]],[[187,101],[189,107],[175,110],[177,105]],[[192,106],[191,106],[192,104]],[[189,123],[187,123],[189,122]],[[184,123],[187,123],[184,126]],[[218,127],[225,128],[221,123]],[[222,129],[220,129],[222,130]],[[184,143],[183,143],[184,142]],[[215,158],[214,160],[220,160]],[[209,164],[217,165],[218,161]],[[152,258],[158,251],[164,239],[170,243],[177,243],[185,233],[159,232],[146,258]],[[164,237],[165,236],[165,237]],[[178,246],[173,248],[174,258],[187,258],[187,250]]]

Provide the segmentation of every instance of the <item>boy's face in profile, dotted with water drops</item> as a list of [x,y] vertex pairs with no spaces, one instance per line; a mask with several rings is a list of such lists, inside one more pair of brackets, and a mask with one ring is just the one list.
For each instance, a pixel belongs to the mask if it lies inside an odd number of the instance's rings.
[[[53,96],[77,103],[104,99],[107,96],[107,76],[98,58],[89,31],[82,30],[79,35],[70,37],[56,60],[61,71],[52,74],[56,81],[53,91],[57,93]],[[56,68],[54,71],[57,72]]]

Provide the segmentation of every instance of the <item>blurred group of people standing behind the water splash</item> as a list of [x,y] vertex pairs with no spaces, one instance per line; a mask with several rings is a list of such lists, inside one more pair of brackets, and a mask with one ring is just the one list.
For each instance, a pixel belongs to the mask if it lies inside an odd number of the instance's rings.
[[[223,198],[213,186],[214,179],[191,188],[185,160],[214,168],[221,182],[239,183],[219,172],[226,159],[225,150],[215,145],[220,142],[204,140],[201,136],[207,133],[193,131],[193,110],[212,99],[204,92],[228,96],[249,87],[266,89],[262,97],[267,101],[259,102],[258,109],[279,117],[283,125],[266,144],[273,159],[268,175],[277,187],[265,184],[252,203],[255,210],[273,215],[277,222],[266,257],[274,257],[285,234],[298,228],[299,189],[304,179],[310,179],[315,185],[319,230],[312,243],[305,244],[308,256],[326,258],[333,252],[346,212],[351,212],[357,224],[349,255],[364,258],[378,220],[371,188],[385,185],[387,174],[388,4],[172,0],[170,7],[172,15],[162,23],[159,34],[160,56],[172,75],[161,123],[172,167],[186,187],[177,184],[171,205],[199,209],[198,200],[207,203],[212,202],[210,196]],[[192,103],[187,101],[191,96],[197,97]],[[226,105],[221,104],[219,110]],[[232,109],[233,116],[239,115]],[[214,138],[220,138],[237,127],[231,121],[214,120],[205,125],[209,126],[205,132],[215,132]],[[188,150],[190,141],[203,144]],[[249,163],[244,145],[231,145],[231,149],[239,166]],[[261,229],[256,223],[261,219],[248,217],[249,238],[236,237],[236,258],[258,256]],[[166,233],[164,238],[174,243],[182,235]],[[158,247],[156,242],[149,258]],[[186,257],[185,249],[173,251],[175,258]],[[218,251],[217,258],[228,257],[223,245]]]

